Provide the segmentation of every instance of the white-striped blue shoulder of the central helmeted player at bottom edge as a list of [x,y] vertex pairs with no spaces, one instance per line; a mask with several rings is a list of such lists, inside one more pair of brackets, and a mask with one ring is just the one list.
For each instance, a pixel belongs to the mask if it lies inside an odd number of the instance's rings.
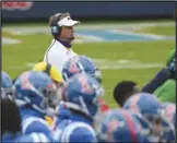
[[54,130],[54,139],[58,142],[96,142],[94,129],[84,122],[64,120]]

